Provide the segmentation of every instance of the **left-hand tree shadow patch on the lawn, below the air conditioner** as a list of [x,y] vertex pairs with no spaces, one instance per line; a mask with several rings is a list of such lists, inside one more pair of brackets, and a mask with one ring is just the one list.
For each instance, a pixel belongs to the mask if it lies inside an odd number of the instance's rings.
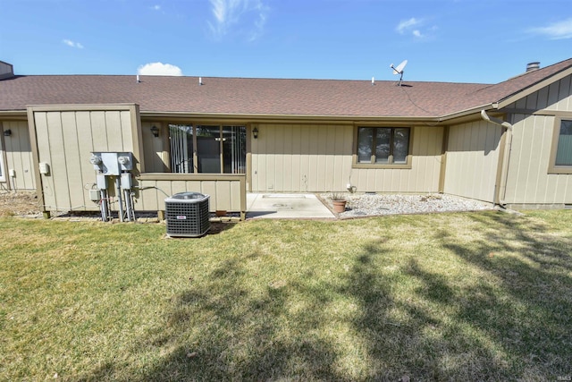
[[[161,330],[150,341],[159,351],[172,350],[140,380],[341,379],[331,368],[332,344],[315,335],[325,321],[316,312],[329,297],[282,280],[249,290],[240,281],[253,276],[245,260],[224,261],[210,272],[211,282],[191,285],[174,299],[166,318],[170,335]],[[292,311],[289,300],[299,294],[308,299]],[[289,332],[289,320],[298,333]]]

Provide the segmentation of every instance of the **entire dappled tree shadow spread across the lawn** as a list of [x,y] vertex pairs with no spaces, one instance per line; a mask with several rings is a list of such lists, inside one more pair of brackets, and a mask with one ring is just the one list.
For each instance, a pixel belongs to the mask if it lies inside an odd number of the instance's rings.
[[[345,280],[331,284],[312,283],[308,272],[295,283],[276,280],[253,291],[237,280],[257,276],[245,264],[258,253],[223,262],[206,277],[208,283],[191,284],[174,299],[168,330],[157,328],[141,339],[141,346],[165,356],[140,380],[569,376],[572,240],[556,240],[546,225],[527,217],[488,213],[470,218],[482,230],[470,239],[458,240],[452,225],[433,230],[427,239],[484,275],[471,276],[467,284],[453,284],[440,270],[427,270],[416,253],[404,253],[407,260],[388,272],[391,243],[384,238],[365,243]],[[431,232],[432,221],[426,222],[415,224],[426,224]],[[412,283],[410,298],[396,296],[400,283]],[[356,301],[357,314],[337,318],[327,313],[340,296]],[[350,327],[356,344],[352,357],[366,366],[343,364],[347,354],[335,338],[324,335],[339,326]],[[348,373],[352,366],[357,369],[353,375]],[[113,374],[114,368],[105,365],[88,379]]]

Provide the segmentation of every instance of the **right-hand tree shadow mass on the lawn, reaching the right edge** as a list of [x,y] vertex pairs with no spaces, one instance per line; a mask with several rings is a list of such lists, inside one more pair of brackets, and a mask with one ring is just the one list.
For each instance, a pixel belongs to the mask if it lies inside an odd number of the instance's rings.
[[[360,301],[354,325],[365,333],[374,364],[381,365],[370,371],[371,378],[546,380],[569,375],[572,241],[555,240],[546,225],[526,217],[489,213],[471,218],[484,227],[475,239],[458,241],[454,229],[440,228],[433,240],[483,272],[477,283],[452,283],[441,271],[425,270],[423,258],[409,259],[395,272],[406,278],[382,277],[383,262],[376,259],[383,257],[383,247],[365,246],[344,293]],[[412,280],[411,299],[394,297],[398,283]]]

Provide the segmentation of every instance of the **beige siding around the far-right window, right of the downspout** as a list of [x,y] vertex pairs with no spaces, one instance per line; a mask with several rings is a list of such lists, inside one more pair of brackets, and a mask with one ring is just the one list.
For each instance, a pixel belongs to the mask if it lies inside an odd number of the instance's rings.
[[[523,98],[508,109],[543,110],[542,115],[512,115],[513,140],[507,187],[509,205],[572,204],[572,174],[548,174],[555,116],[572,112],[572,76]],[[566,114],[568,113],[568,114]],[[552,115],[551,115],[552,114]]]

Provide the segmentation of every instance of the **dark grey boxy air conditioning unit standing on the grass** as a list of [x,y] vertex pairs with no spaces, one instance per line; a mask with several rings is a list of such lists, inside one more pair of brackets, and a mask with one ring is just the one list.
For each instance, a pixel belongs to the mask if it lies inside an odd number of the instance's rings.
[[164,199],[167,235],[199,237],[211,227],[209,196],[199,192],[180,192]]

